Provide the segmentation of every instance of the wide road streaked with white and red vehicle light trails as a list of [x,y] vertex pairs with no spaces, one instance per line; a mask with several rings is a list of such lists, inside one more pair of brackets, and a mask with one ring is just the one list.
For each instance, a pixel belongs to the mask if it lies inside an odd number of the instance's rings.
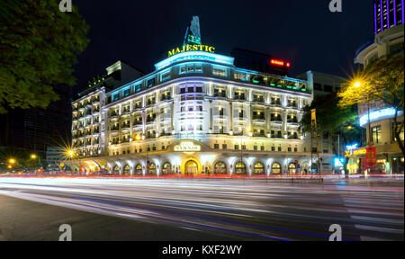
[[[401,180],[0,178],[0,240],[403,240]],[[55,230],[56,229],[56,230]]]

